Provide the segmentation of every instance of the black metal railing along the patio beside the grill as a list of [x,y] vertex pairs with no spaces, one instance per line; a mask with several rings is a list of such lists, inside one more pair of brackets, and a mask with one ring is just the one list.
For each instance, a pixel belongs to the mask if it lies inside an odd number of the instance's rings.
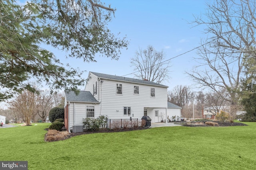
[[138,126],[138,119],[108,119],[108,128],[135,127]]

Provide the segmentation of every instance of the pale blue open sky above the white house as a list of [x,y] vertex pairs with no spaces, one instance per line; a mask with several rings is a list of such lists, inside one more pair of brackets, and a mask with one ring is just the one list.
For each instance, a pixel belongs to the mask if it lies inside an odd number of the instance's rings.
[[[193,21],[193,14],[200,16],[206,8],[204,0],[104,0],[106,6],[111,4],[116,8],[115,18],[108,24],[112,33],[119,33],[120,37],[127,36],[130,42],[128,50],[122,49],[118,61],[107,57],[95,56],[96,63],[83,63],[82,59],[66,59],[65,53],[50,49],[64,64],[88,72],[100,72],[134,78],[134,69],[130,63],[135,51],[140,47],[145,49],[152,45],[157,51],[163,50],[166,59],[170,59],[200,45],[204,35],[203,27],[192,27],[188,22]],[[170,62],[169,81],[162,84],[172,90],[177,85],[191,85],[192,81],[184,73],[198,63],[194,61],[196,50],[181,55]],[[84,90],[84,87],[80,87]],[[197,89],[194,89],[197,91]]]

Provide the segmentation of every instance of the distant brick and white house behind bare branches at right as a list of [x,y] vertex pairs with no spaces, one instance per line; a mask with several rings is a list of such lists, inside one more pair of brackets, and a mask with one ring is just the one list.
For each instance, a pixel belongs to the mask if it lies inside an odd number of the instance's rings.
[[210,106],[210,107],[204,107],[202,110],[202,117],[203,119],[216,119],[217,113],[220,111],[229,111],[229,106]]

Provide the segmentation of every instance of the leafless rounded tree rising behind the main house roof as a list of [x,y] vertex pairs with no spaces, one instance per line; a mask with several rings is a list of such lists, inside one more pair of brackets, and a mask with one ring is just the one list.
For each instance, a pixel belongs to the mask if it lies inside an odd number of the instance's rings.
[[149,45],[146,49],[139,48],[132,58],[132,65],[135,67],[135,77],[146,79],[152,82],[161,83],[168,80],[169,61],[164,61],[164,51],[156,51],[154,47]]

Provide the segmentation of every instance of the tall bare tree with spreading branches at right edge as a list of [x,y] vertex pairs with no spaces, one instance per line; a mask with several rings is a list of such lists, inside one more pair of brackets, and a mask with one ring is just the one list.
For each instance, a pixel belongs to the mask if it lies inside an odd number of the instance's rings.
[[[186,72],[200,87],[216,93],[226,89],[225,100],[238,104],[240,77],[244,76],[243,57],[256,55],[254,47],[256,29],[256,2],[250,0],[216,0],[207,4],[206,19],[196,18],[197,25],[205,25],[210,35],[201,41],[196,66]],[[207,42],[207,43],[206,43]]]

